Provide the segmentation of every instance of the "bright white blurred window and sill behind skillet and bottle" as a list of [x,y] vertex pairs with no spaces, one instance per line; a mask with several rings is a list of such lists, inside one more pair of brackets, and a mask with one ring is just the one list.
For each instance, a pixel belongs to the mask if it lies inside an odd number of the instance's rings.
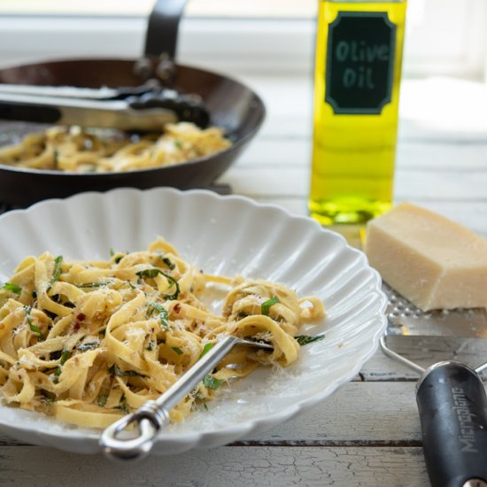
[[[318,0],[192,0],[179,60],[226,73],[313,71]],[[0,63],[136,58],[153,0],[3,0]],[[485,79],[485,0],[409,0],[404,75]],[[59,39],[62,38],[62,42]]]

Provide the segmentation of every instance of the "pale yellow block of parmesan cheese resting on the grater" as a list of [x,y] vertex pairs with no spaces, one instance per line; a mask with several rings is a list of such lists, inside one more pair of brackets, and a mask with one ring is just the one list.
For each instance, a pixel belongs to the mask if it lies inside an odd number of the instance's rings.
[[368,261],[423,311],[487,306],[487,241],[420,206],[402,203],[367,224]]

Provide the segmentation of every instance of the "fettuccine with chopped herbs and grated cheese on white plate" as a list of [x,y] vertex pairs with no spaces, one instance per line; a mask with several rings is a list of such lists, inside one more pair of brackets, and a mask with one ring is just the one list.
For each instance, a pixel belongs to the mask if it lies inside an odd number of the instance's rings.
[[[221,315],[203,303],[228,286]],[[106,261],[27,257],[0,291],[0,383],[12,406],[104,428],[157,398],[220,336],[251,336],[274,351],[236,347],[178,406],[171,421],[206,406],[220,385],[259,364],[290,365],[318,298],[258,279],[204,274],[158,239]]]

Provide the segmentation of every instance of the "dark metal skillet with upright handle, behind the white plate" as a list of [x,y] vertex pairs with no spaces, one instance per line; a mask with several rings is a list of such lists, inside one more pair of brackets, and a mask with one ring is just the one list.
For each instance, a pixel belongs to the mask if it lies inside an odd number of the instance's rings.
[[[225,151],[175,166],[139,171],[78,174],[0,165],[0,201],[27,206],[50,197],[67,197],[81,191],[117,187],[179,189],[211,185],[250,143],[265,117],[262,100],[243,84],[205,70],[173,61],[179,20],[186,0],[158,0],[139,60],[77,59],[16,66],[0,70],[0,82],[45,86],[137,87],[157,78],[166,88],[196,93],[210,112],[210,124],[224,128],[232,140]],[[0,121],[0,141],[12,143],[35,124]]]

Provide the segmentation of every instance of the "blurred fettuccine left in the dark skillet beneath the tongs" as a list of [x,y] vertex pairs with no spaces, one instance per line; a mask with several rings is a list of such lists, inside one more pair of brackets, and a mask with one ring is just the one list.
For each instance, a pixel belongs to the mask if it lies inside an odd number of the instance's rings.
[[230,146],[217,127],[166,124],[162,135],[131,139],[113,131],[48,128],[0,149],[0,164],[73,173],[134,171],[180,164]]

